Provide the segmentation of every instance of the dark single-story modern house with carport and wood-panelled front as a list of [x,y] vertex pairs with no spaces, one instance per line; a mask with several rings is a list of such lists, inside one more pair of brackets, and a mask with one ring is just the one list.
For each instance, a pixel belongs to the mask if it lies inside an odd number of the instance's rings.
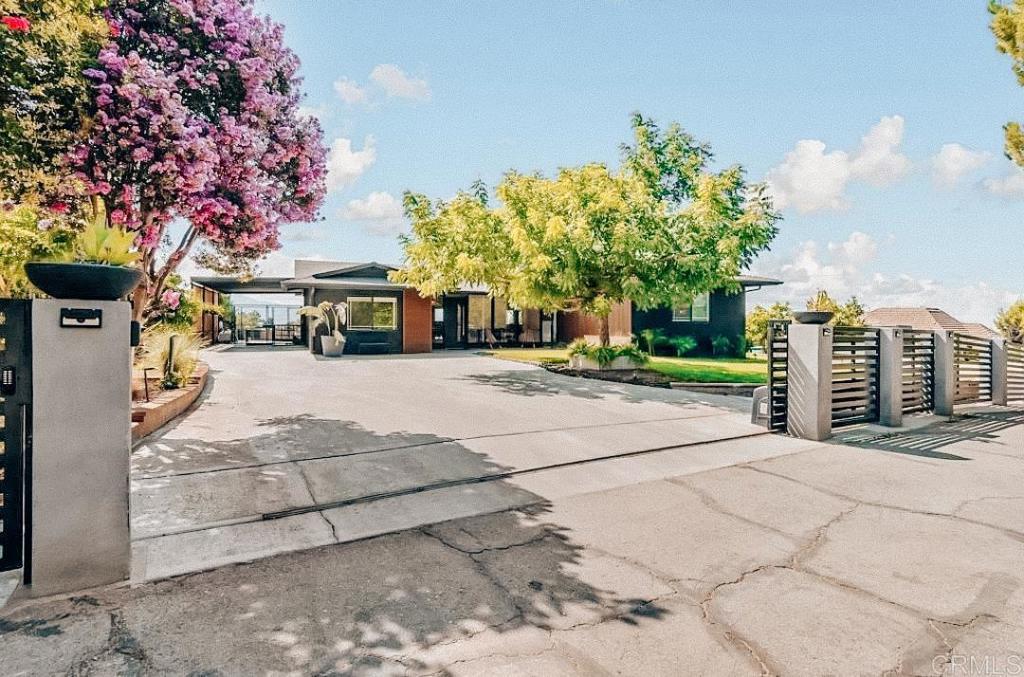
[[[391,282],[394,266],[377,262],[295,261],[293,278],[257,278],[239,282],[231,278],[194,278],[193,284],[206,296],[218,293],[301,294],[303,303],[322,301],[348,304],[345,352],[429,352],[447,348],[492,345],[552,345],[598,334],[596,318],[580,312],[543,312],[516,309],[486,289],[465,287],[431,299],[406,285]],[[627,341],[647,327],[662,329],[667,336],[693,336],[703,350],[711,339],[741,336],[745,325],[745,292],[778,280],[742,276],[740,290],[698,295],[691,303],[673,308],[638,310],[622,303],[611,313],[611,334]],[[208,301],[208,302],[216,302]],[[205,327],[205,325],[204,325]],[[274,330],[270,328],[270,334]],[[299,328],[300,340],[312,351],[318,341],[309,323]]]

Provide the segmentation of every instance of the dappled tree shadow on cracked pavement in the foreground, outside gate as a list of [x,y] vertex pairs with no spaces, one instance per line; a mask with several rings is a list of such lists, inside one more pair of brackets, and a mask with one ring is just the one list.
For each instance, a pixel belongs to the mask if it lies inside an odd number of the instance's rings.
[[669,613],[653,592],[610,589],[546,512],[460,519],[33,603],[0,623],[0,665],[14,673],[449,674],[455,661],[550,648],[552,629]]

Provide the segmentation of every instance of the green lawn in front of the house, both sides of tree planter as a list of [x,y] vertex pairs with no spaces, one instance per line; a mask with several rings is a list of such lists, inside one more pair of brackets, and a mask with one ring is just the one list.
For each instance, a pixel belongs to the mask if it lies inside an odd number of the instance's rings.
[[[569,361],[565,348],[498,348],[485,354],[536,365]],[[767,364],[756,357],[651,357],[647,369],[690,383],[764,383],[768,378]]]

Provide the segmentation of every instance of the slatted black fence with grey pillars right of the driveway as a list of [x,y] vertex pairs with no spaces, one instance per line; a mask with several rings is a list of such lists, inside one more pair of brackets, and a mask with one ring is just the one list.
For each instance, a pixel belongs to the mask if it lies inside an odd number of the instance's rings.
[[1024,346],[956,332],[771,323],[768,427],[827,439],[906,414],[1024,405]]

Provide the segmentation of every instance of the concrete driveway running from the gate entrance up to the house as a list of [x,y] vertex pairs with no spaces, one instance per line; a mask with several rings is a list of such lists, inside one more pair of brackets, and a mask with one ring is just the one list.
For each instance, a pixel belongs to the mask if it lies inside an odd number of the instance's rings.
[[473,353],[205,358],[198,408],[132,455],[136,581],[806,447],[752,426],[749,400]]

